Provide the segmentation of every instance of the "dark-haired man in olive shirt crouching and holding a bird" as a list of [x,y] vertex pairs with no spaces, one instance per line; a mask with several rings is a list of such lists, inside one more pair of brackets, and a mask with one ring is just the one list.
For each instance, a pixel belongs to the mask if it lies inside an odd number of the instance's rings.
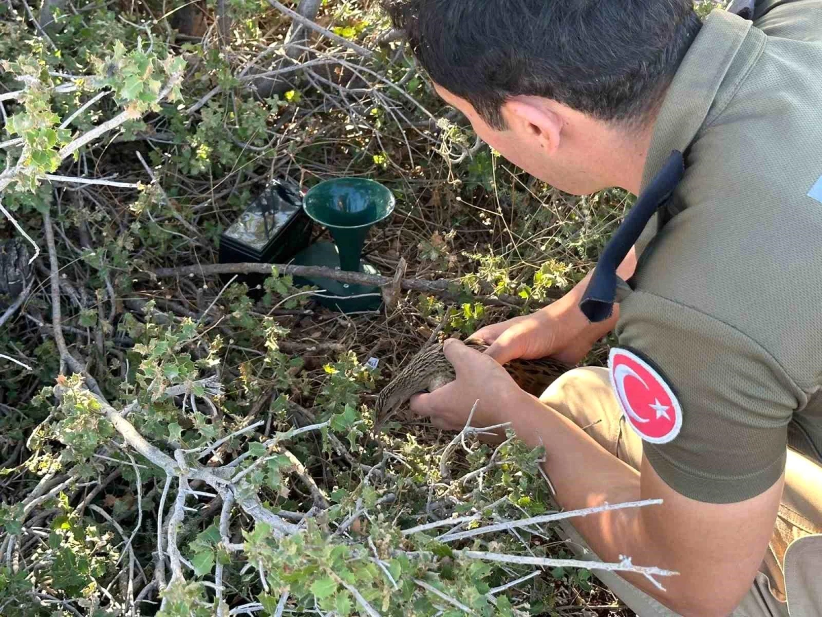
[[[569,193],[639,197],[565,298],[446,344],[414,397],[444,429],[542,443],[595,571],[640,615],[822,615],[822,0],[405,0],[386,6],[436,91],[490,146]],[[500,364],[607,369],[541,400]],[[496,361],[495,361],[496,360]],[[593,424],[593,425],[592,425]],[[585,427],[585,428],[583,428]],[[787,602],[786,600],[787,596]]]

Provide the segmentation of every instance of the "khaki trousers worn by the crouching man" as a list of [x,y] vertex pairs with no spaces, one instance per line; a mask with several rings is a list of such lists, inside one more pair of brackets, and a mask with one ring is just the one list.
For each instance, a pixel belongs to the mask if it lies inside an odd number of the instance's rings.
[[[626,424],[607,369],[573,369],[540,399],[586,428],[615,457],[640,468],[642,440]],[[561,531],[580,559],[600,559],[572,525]],[[640,617],[678,617],[617,573],[593,570]],[[822,617],[822,465],[788,448],[785,488],[769,550],[747,596],[732,617]]]

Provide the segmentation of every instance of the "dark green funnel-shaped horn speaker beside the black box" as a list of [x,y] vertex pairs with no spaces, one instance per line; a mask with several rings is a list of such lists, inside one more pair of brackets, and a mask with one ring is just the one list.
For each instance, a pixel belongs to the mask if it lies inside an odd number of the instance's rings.
[[[326,227],[336,246],[316,243],[294,259],[305,266],[326,266],[350,272],[377,274],[376,268],[360,261],[368,230],[394,211],[394,195],[381,183],[364,178],[326,180],[306,193],[303,209]],[[316,299],[344,313],[379,308],[380,290],[367,285],[344,284],[328,279],[302,279],[303,285],[316,285],[336,298]],[[349,297],[358,296],[358,297]]]

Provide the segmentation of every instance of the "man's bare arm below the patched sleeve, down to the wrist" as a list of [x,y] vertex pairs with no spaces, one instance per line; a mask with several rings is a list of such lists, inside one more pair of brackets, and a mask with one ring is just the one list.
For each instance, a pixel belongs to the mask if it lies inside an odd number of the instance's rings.
[[531,446],[544,444],[543,466],[562,508],[663,499],[659,506],[576,518],[601,559],[627,555],[634,564],[680,573],[660,580],[666,591],[642,575],[621,576],[681,615],[728,615],[738,605],[762,563],[783,480],[741,503],[698,502],[668,487],[647,459],[640,474],[534,397],[524,395],[510,409],[515,432]]

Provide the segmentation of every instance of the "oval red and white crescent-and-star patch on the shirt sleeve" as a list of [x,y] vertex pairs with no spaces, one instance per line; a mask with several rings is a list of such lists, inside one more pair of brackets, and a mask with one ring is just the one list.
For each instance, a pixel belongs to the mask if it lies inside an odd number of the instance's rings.
[[663,378],[638,355],[613,347],[611,385],[633,429],[649,443],[668,443],[682,428],[682,409]]

